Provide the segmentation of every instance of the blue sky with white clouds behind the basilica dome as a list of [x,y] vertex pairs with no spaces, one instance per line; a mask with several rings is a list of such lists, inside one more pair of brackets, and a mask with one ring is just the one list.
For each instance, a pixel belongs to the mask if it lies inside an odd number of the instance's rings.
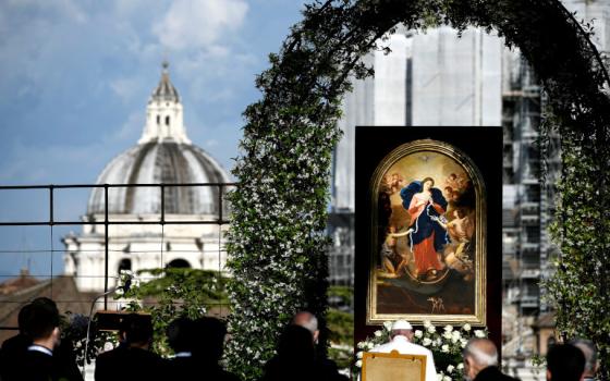
[[[103,165],[138,139],[164,58],[190,138],[230,170],[241,113],[260,96],[255,75],[300,21],[303,3],[1,1],[0,184],[95,183]],[[58,213],[83,214],[87,193],[59,196]],[[0,192],[0,220],[45,219],[47,197]],[[27,258],[33,272],[45,272],[46,259],[1,251],[44,250],[51,242],[61,248],[68,229],[56,229],[51,239],[48,228],[0,228],[0,275],[16,273]],[[61,266],[56,257],[53,271]]]

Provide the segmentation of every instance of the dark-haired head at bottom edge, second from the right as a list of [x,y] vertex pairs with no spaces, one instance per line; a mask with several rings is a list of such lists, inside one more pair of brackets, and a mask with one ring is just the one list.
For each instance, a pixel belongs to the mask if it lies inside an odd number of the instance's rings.
[[585,370],[583,351],[570,344],[556,344],[547,353],[547,380],[578,381]]

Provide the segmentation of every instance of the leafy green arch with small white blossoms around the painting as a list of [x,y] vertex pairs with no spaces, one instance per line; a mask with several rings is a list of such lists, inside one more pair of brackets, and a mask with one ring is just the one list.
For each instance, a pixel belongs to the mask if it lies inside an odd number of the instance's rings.
[[[233,170],[240,185],[230,195],[233,340],[228,357],[232,370],[246,380],[260,376],[279,332],[296,310],[309,309],[324,323],[327,284],[320,280],[328,273],[324,230],[332,149],[340,138],[335,125],[340,99],[350,88],[350,75],[371,74],[361,57],[399,23],[414,29],[440,24],[462,30],[479,26],[497,30],[507,45],[521,49],[542,82],[548,112],[553,115],[546,133],[559,132],[568,148],[562,153],[564,172],[577,177],[564,176],[559,205],[565,210],[586,210],[590,217],[562,216],[560,225],[570,226],[570,234],[589,235],[583,244],[558,234],[565,253],[562,262],[570,265],[557,279],[562,284],[575,278],[587,283],[582,292],[600,298],[603,308],[610,306],[603,285],[610,276],[605,257],[610,247],[606,192],[610,101],[602,90],[607,75],[588,34],[559,1],[314,1],[305,7],[303,20],[292,27],[280,52],[269,56],[270,67],[256,79],[263,98],[244,112],[241,156]],[[591,200],[596,208],[588,208]],[[596,282],[580,279],[583,262]],[[574,328],[572,315],[583,306],[565,303],[562,290],[549,283],[562,330],[589,337],[594,329],[609,332],[608,322]],[[571,300],[583,298],[582,292]],[[610,316],[605,309],[597,314]],[[608,346],[603,351],[607,359]]]

